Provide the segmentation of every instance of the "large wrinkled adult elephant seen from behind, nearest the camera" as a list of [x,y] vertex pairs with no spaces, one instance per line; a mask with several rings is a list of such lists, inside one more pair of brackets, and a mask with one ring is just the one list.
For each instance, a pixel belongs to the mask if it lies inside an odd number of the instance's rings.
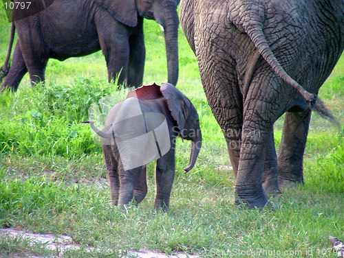
[[182,0],[180,21],[224,132],[235,202],[264,207],[267,194],[303,183],[312,105],[343,52],[344,1]]

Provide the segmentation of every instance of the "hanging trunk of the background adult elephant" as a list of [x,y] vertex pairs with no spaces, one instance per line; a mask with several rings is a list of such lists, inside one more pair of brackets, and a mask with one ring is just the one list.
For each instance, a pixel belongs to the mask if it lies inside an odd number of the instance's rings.
[[155,21],[164,27],[168,82],[174,86],[178,82],[178,14],[174,1],[161,1],[160,10],[155,10]]

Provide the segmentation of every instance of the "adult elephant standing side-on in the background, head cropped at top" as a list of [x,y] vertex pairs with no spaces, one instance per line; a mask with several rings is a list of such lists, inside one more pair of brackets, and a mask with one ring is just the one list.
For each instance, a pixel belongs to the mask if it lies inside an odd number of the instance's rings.
[[[140,86],[145,56],[143,18],[155,19],[164,27],[168,82],[175,85],[178,81],[178,2],[54,0],[42,12],[35,13],[40,10],[40,1],[33,2],[28,10],[14,9],[8,58],[2,68],[2,77],[8,75],[1,88],[16,91],[27,71],[32,83],[44,81],[49,58],[62,61],[100,49],[107,62],[109,82],[120,73],[119,84],[126,81],[128,86]],[[12,67],[8,69],[14,28],[17,28],[19,40]]]

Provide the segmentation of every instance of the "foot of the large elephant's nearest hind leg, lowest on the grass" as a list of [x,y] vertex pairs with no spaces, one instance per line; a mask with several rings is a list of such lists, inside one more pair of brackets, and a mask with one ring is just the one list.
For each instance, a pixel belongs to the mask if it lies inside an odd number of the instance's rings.
[[244,204],[250,209],[264,208],[268,203],[268,198],[262,187],[252,191],[249,187],[235,187],[235,204]]

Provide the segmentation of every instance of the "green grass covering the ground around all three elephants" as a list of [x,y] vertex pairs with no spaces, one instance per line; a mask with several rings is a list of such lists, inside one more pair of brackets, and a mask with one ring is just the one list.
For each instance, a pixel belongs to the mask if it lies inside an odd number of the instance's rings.
[[[1,8],[3,62],[10,24]],[[163,34],[154,21],[145,21],[144,26],[144,83],[160,84],[166,81]],[[100,248],[88,253],[89,257],[120,257],[119,250],[139,248],[166,253],[183,250],[204,257],[229,257],[238,250],[241,254],[235,257],[250,257],[243,252],[251,249],[300,252],[294,255],[299,257],[312,251],[319,257],[319,251],[330,248],[328,235],[344,237],[343,134],[313,115],[305,150],[305,186],[272,198],[275,209],[235,207],[235,182],[228,169],[224,137],[206,102],[197,60],[181,31],[179,41],[178,88],[200,114],[204,144],[195,168],[184,174],[191,143],[178,140],[171,211],[153,211],[153,163],[148,172],[149,193],[139,207],[129,205],[123,211],[110,204],[101,146],[92,140],[89,126],[80,124],[88,119],[90,104],[114,90],[107,84],[105,60],[98,52],[65,62],[50,60],[45,86],[32,88],[25,75],[17,93],[0,95],[0,227],[70,235],[83,248]],[[344,56],[320,91],[341,124],[343,76]],[[275,127],[277,148],[282,122],[279,119]],[[71,250],[65,257],[85,257],[84,250]],[[0,237],[4,257],[54,255],[49,252],[25,239]]]

